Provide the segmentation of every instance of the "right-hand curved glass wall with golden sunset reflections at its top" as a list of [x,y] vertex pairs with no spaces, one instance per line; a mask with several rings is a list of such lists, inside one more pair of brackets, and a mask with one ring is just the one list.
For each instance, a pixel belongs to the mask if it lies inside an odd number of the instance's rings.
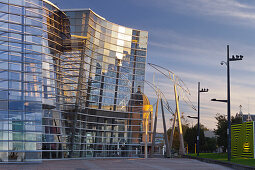
[[144,86],[148,33],[111,23],[91,10],[65,13],[72,36],[65,55],[76,65],[67,60],[65,68],[70,73],[66,84],[74,87],[64,87],[66,103],[77,113],[65,114],[75,129],[71,156],[138,156],[143,98],[136,96],[142,96]]

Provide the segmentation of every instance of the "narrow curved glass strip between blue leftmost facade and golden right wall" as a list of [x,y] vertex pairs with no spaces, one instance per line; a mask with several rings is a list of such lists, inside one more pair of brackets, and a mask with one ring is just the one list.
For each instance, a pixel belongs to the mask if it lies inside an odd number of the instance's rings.
[[55,5],[43,1],[43,57],[42,57],[42,158],[65,157],[65,133],[62,131],[64,42],[70,40],[70,26],[66,15]]

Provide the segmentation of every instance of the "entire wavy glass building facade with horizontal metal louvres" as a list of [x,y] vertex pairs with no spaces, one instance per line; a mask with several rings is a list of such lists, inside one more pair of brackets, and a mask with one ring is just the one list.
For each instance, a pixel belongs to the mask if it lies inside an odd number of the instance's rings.
[[138,156],[147,38],[90,9],[0,0],[0,162]]

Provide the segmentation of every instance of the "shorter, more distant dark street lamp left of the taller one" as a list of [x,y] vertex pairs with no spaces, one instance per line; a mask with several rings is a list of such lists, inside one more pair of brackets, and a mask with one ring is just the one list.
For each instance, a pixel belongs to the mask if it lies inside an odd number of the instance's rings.
[[197,91],[197,156],[199,156],[199,134],[200,134],[200,127],[199,127],[199,124],[200,124],[200,93],[206,93],[208,92],[209,89],[205,89],[205,88],[202,88],[200,89],[200,82],[198,82],[198,91]]

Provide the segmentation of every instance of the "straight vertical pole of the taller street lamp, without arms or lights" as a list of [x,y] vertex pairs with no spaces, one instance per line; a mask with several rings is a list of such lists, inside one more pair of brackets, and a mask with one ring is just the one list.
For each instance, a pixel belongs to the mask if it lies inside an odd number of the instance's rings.
[[230,72],[229,72],[229,45],[227,45],[227,104],[228,104],[228,161],[231,159],[231,115],[230,115]]

